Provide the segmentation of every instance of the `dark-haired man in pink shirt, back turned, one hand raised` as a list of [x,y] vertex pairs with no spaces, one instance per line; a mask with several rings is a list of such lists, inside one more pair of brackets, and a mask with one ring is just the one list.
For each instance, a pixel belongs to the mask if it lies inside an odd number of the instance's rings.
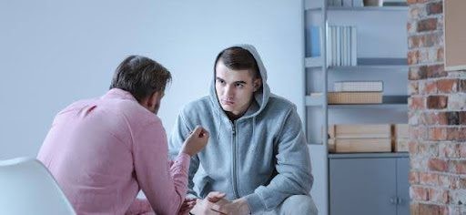
[[[185,201],[189,159],[206,146],[208,132],[195,128],[177,158],[168,160],[157,111],[170,80],[156,61],[128,56],[103,97],[57,114],[37,159],[78,214],[177,214],[193,206]],[[136,199],[140,189],[147,200]]]

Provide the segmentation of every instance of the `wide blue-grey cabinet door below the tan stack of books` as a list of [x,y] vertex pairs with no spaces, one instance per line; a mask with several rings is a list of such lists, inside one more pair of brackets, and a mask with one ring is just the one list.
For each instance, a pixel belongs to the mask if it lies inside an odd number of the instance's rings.
[[329,159],[330,214],[393,215],[396,159]]

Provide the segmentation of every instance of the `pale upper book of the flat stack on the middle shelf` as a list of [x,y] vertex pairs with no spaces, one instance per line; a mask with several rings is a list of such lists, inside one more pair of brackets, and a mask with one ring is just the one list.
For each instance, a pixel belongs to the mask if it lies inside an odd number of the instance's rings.
[[377,92],[383,91],[382,81],[337,81],[333,83],[335,92]]

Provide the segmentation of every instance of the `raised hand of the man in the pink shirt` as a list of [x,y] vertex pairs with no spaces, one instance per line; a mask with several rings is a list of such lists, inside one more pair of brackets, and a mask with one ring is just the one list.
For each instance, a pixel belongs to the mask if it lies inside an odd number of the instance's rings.
[[202,148],[208,144],[208,131],[200,126],[194,128],[193,132],[183,144],[180,152],[187,153],[189,156],[196,155]]

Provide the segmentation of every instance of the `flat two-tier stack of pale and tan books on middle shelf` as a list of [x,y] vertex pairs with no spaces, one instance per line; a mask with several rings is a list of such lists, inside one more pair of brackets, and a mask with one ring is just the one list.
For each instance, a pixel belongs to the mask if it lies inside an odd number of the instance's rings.
[[382,81],[341,81],[329,92],[329,104],[380,104]]

